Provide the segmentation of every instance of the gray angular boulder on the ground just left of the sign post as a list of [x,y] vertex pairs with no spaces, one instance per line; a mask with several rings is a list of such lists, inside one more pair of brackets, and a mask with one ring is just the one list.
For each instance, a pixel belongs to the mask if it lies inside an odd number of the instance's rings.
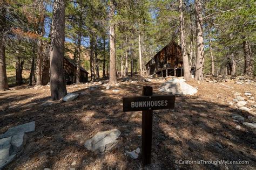
[[118,129],[98,132],[91,139],[87,140],[84,146],[87,150],[104,154],[111,150],[118,143],[121,132]]

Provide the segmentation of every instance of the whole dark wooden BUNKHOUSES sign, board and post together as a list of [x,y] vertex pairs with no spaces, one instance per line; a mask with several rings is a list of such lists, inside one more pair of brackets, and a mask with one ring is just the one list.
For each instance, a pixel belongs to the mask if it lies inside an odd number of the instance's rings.
[[153,88],[143,87],[142,96],[123,97],[123,111],[142,110],[142,163],[151,164],[153,110],[174,108],[174,95],[153,95]]

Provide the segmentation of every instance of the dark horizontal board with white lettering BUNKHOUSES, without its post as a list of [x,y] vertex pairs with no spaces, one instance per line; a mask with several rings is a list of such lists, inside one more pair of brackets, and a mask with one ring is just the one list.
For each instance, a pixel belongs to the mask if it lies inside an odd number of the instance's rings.
[[172,109],[174,102],[174,95],[123,97],[123,111]]

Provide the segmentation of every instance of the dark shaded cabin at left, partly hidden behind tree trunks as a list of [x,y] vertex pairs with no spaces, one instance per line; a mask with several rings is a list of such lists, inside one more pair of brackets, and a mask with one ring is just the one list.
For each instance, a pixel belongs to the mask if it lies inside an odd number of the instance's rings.
[[[76,72],[76,64],[71,59],[64,57],[64,74],[67,84],[76,82]],[[80,67],[80,82],[87,82],[88,74],[89,73],[83,67]]]

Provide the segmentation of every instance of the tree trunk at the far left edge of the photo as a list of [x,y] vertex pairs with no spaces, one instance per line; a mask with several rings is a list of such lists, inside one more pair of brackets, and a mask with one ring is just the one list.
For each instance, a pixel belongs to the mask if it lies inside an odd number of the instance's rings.
[[4,30],[6,26],[6,9],[0,6],[0,91],[9,90],[5,64]]

